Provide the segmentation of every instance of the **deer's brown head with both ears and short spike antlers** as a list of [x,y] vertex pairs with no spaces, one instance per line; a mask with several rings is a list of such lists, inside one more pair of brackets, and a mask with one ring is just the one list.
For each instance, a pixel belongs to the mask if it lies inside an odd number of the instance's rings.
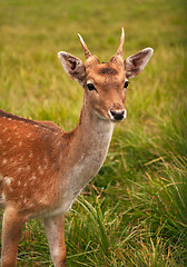
[[125,41],[124,29],[119,48],[109,62],[100,63],[99,59],[91,55],[83,39],[79,34],[86,62],[67,52],[59,52],[58,57],[70,78],[77,80],[85,88],[85,101],[90,111],[100,119],[119,121],[126,118],[125,99],[128,79],[139,75],[149,61],[152,49],[146,48],[136,55],[122,59],[122,46]]

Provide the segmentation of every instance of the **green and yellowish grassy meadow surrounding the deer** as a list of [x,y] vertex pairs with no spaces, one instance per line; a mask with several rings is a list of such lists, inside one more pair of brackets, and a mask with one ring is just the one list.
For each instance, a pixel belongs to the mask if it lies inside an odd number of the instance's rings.
[[[187,1],[0,0],[0,108],[76,127],[82,88],[65,50],[85,60],[77,32],[107,61],[155,53],[130,81],[128,118],[107,160],[66,216],[68,266],[187,266]],[[52,266],[41,220],[24,227],[18,266]]]

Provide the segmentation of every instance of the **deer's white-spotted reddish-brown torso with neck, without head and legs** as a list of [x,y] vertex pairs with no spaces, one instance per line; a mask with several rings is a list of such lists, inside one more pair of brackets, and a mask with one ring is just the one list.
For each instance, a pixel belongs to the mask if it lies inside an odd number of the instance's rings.
[[[0,161],[1,206],[14,204],[27,219],[68,211],[108,151],[114,123],[97,120],[81,118],[79,127],[65,132],[49,122],[0,111],[4,151]],[[90,129],[87,134],[85,121]]]

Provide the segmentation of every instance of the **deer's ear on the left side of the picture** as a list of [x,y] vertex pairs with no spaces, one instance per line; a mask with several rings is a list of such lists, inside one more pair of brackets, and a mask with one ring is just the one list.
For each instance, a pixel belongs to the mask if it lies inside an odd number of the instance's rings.
[[71,56],[70,53],[67,53],[63,51],[59,52],[58,57],[68,76],[71,79],[78,81],[81,86],[83,86],[86,71],[85,71],[85,65],[82,63],[82,61]]

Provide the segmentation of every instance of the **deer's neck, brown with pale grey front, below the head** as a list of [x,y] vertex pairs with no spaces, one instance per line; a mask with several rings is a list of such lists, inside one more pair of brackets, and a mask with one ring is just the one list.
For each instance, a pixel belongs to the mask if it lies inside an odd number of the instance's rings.
[[86,102],[70,149],[68,185],[79,192],[102,166],[111,140],[114,123],[89,111]]

